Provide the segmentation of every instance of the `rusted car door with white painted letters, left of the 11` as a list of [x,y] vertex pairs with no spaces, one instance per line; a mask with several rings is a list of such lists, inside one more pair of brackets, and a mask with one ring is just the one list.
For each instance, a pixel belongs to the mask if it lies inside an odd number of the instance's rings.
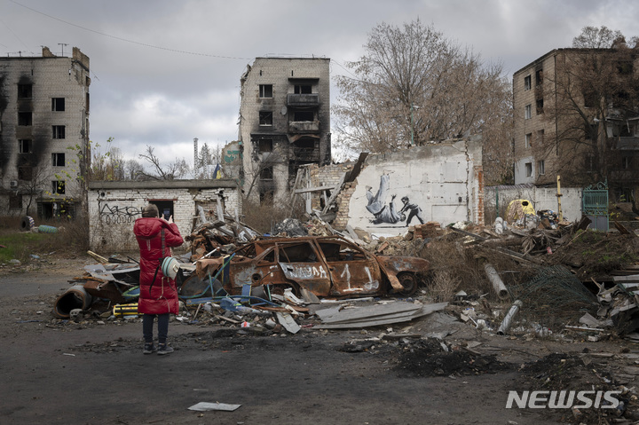
[[278,252],[281,271],[287,279],[315,295],[329,294],[331,280],[327,266],[310,241],[278,243]]

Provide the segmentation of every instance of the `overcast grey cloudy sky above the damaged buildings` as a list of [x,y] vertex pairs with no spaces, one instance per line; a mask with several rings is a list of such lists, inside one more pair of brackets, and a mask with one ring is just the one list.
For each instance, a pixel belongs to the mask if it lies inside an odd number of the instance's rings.
[[372,28],[419,18],[511,77],[586,26],[639,35],[637,17],[633,0],[0,0],[0,53],[80,48],[91,59],[91,140],[113,137],[127,158],[150,145],[162,161],[193,163],[193,138],[237,139],[240,77],[256,57],[330,58],[341,75]]

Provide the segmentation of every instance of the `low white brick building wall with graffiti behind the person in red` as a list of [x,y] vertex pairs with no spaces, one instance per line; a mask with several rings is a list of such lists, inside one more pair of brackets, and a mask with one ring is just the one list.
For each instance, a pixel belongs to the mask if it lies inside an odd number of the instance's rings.
[[[183,187],[158,188],[144,184],[135,187],[134,184],[91,183],[88,193],[91,250],[110,255],[138,249],[133,224],[142,216],[142,208],[149,201],[172,202],[173,220],[183,237],[193,231],[198,205],[215,209],[216,202],[220,201],[225,213],[231,216],[235,215],[236,209],[241,210],[241,196],[236,188],[187,187],[185,184]],[[188,245],[181,249],[188,249]]]

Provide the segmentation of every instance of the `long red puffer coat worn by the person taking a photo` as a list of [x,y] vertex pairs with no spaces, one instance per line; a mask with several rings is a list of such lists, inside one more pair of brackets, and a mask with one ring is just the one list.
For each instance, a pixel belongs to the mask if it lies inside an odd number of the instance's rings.
[[[162,230],[164,231],[164,252],[162,252]],[[133,225],[133,232],[140,248],[140,295],[138,312],[146,314],[177,314],[177,289],[175,280],[165,278],[158,270],[160,258],[170,256],[170,248],[179,247],[184,240],[177,230],[177,224],[162,218],[142,217]],[[157,276],[154,275],[157,270]],[[153,287],[151,283],[153,283]]]

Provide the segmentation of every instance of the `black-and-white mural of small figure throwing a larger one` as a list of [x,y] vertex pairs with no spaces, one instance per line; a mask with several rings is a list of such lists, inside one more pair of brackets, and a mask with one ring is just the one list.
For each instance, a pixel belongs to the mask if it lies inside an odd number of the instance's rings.
[[366,189],[368,200],[367,210],[375,217],[371,219],[371,223],[398,224],[406,220],[406,224],[404,225],[407,227],[413,220],[413,217],[416,217],[421,224],[424,224],[422,209],[419,208],[417,204],[411,202],[407,196],[401,199],[403,206],[399,210],[395,207],[395,197],[397,195],[391,195],[390,201],[388,203],[386,202],[386,198],[390,192],[390,176],[388,173],[384,172],[382,177],[380,177],[380,185],[377,193],[373,194],[373,188],[371,186],[367,186]]

